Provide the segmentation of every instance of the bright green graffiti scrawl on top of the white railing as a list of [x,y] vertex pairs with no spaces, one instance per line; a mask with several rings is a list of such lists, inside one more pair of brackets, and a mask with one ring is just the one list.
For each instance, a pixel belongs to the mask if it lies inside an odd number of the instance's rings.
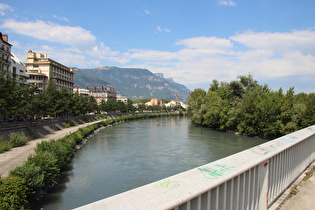
[[211,167],[198,168],[198,170],[207,179],[217,179],[221,176],[224,176],[226,171],[234,168],[235,166],[215,164]]

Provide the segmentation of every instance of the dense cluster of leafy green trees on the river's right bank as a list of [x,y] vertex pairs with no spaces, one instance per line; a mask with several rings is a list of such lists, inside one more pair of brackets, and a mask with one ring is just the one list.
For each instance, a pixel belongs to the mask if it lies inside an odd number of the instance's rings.
[[314,93],[272,91],[251,75],[230,83],[213,80],[208,92],[194,90],[188,105],[196,124],[269,139],[315,124]]

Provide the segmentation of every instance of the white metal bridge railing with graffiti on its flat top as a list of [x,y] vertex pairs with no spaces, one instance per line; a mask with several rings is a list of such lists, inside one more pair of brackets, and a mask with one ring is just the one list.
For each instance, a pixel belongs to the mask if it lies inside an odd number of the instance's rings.
[[315,125],[78,209],[267,209],[315,160]]

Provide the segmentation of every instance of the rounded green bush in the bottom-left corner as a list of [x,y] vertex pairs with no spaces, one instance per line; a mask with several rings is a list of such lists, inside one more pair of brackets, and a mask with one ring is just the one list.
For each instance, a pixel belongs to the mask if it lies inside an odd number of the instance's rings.
[[0,209],[25,209],[28,188],[20,177],[0,179]]

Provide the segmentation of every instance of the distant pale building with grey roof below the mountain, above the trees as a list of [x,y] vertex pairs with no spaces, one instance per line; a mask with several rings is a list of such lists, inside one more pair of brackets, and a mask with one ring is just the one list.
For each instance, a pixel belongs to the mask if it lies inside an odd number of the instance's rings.
[[100,104],[102,101],[107,102],[108,100],[116,101],[116,91],[112,87],[87,87],[86,89],[89,90],[90,96],[93,96],[97,102]]

